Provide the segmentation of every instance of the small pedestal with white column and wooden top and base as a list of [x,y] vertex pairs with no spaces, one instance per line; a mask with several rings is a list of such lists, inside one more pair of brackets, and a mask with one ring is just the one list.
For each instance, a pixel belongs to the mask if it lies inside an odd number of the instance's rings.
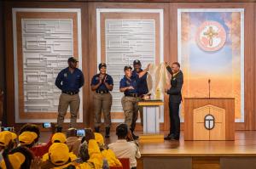
[[162,100],[143,100],[138,105],[143,106],[143,135],[141,139],[164,138],[160,134],[160,105]]

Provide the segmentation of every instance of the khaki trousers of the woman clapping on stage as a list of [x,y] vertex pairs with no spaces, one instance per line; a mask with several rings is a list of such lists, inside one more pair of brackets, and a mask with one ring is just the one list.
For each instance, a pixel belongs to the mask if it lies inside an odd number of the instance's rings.
[[101,126],[101,117],[102,111],[104,115],[104,124],[105,127],[111,126],[111,105],[112,105],[112,95],[111,93],[95,93],[93,97],[94,101],[94,126],[100,127]]

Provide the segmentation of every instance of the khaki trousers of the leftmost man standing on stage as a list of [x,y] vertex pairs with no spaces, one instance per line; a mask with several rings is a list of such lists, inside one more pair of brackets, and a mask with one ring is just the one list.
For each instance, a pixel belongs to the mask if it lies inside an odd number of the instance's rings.
[[74,95],[61,93],[61,96],[59,99],[59,107],[58,107],[58,119],[57,119],[58,127],[62,127],[65,115],[67,114],[68,105],[70,106],[70,114],[71,114],[70,127],[75,127],[77,123],[77,115],[79,112],[79,105],[80,105],[79,93]]

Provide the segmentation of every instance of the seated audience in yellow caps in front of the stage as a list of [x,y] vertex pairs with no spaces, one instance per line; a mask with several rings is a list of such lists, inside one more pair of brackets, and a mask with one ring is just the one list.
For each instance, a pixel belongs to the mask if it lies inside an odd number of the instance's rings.
[[126,167],[123,159],[129,161],[126,168],[137,167],[140,151],[126,124],[116,128],[118,140],[109,145],[101,133],[84,130],[84,137],[75,128],[66,134],[53,132],[46,144],[38,144],[40,129],[34,124],[21,127],[19,135],[0,132],[0,169],[115,169]]

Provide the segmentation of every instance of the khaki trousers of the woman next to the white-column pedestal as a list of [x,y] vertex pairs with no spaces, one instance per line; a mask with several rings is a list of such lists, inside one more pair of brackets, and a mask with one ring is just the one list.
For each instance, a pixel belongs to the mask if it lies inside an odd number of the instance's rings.
[[125,113],[125,123],[131,130],[135,130],[138,116],[138,98],[124,96],[122,98],[122,106]]

